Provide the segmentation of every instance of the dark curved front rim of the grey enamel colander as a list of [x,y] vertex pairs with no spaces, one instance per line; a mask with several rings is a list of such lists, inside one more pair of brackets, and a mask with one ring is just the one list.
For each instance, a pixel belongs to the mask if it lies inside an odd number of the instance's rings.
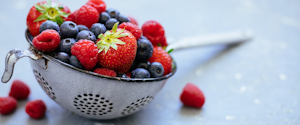
[[175,74],[175,72],[177,70],[176,62],[172,58],[172,60],[173,60],[173,62],[172,62],[173,63],[172,64],[172,72],[165,75],[165,76],[163,76],[163,77],[159,77],[159,78],[122,78],[122,77],[111,77],[111,76],[101,75],[101,74],[97,74],[97,73],[87,71],[87,70],[84,70],[84,69],[79,69],[79,68],[77,68],[73,65],[62,62],[62,61],[50,56],[49,54],[47,54],[45,52],[37,50],[36,48],[34,48],[34,46],[32,44],[32,41],[30,39],[30,37],[32,38],[32,36],[31,36],[30,31],[28,29],[26,29],[26,31],[25,31],[25,37],[26,37],[27,42],[30,44],[30,47],[35,52],[37,52],[39,55],[41,55],[42,57],[44,57],[48,60],[51,60],[51,61],[53,61],[57,64],[63,65],[65,67],[69,68],[69,69],[72,69],[72,70],[75,70],[75,71],[78,71],[78,72],[82,72],[82,73],[86,73],[86,74],[89,74],[89,75],[93,75],[93,76],[96,76],[96,77],[101,77],[101,78],[106,78],[106,79],[111,79],[111,80],[124,81],[124,82],[138,82],[138,83],[141,83],[141,82],[155,82],[155,81],[162,81],[162,80],[170,78],[171,76],[173,76]]

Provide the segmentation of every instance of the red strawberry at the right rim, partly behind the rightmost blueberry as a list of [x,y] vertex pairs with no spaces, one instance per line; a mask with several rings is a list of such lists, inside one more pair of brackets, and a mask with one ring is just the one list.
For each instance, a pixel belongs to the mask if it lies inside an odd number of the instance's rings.
[[171,56],[160,46],[153,46],[153,54],[148,59],[150,63],[160,62],[164,67],[164,75],[169,74],[172,71],[172,58]]

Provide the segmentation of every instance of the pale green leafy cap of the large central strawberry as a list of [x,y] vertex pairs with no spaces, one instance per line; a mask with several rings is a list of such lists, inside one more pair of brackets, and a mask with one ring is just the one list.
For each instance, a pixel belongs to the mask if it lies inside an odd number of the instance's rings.
[[98,38],[100,40],[96,43],[96,45],[99,49],[99,53],[104,50],[105,54],[106,54],[107,51],[110,49],[110,47],[117,50],[118,49],[117,44],[120,44],[120,45],[126,44],[122,40],[118,39],[121,37],[128,36],[127,33],[123,33],[125,28],[122,30],[119,30],[117,32],[118,24],[119,24],[119,22],[115,23],[111,31],[108,30],[104,34],[98,35]]

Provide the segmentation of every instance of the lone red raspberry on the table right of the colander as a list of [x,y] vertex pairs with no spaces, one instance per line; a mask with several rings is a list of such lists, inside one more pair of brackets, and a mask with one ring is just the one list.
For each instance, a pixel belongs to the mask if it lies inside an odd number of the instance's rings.
[[196,85],[188,83],[183,88],[180,100],[186,106],[201,108],[205,102],[205,97]]

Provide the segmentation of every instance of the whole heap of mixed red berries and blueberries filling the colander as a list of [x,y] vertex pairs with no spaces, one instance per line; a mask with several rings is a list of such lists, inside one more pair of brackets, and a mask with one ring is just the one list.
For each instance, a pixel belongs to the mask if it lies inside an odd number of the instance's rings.
[[157,21],[137,21],[89,0],[73,13],[54,1],[33,6],[27,16],[33,46],[77,68],[126,78],[157,78],[171,73],[165,30]]

